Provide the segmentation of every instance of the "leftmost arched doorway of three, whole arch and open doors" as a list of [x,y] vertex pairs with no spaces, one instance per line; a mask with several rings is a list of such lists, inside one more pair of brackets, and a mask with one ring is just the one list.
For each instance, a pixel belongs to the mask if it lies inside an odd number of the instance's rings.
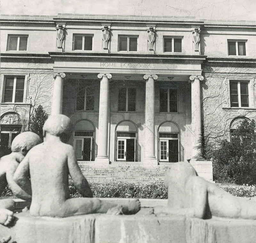
[[73,147],[77,160],[92,161],[94,148],[95,128],[92,122],[81,120],[74,126],[74,143]]

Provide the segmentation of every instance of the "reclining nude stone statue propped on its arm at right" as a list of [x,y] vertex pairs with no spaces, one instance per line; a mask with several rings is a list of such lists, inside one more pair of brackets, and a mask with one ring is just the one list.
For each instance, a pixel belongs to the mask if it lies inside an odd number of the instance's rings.
[[154,214],[180,214],[188,217],[212,216],[256,219],[256,201],[236,197],[197,176],[188,162],[172,163],[164,184],[168,188],[168,206],[157,206]]

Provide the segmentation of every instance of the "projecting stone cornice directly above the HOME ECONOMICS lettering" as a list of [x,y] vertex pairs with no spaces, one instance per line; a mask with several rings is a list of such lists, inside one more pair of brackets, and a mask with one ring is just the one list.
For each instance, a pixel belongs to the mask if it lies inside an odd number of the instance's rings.
[[137,55],[104,53],[49,52],[53,61],[148,62],[148,63],[203,63],[203,55]]

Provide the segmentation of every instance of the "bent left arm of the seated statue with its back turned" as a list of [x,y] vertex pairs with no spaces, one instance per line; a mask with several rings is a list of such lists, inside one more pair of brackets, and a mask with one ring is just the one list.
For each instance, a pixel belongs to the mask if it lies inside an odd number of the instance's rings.
[[21,199],[31,200],[32,190],[30,180],[28,179],[28,174],[29,159],[28,156],[26,156],[18,165],[16,171],[14,170],[12,174],[10,173],[9,180],[6,174],[6,179],[14,195],[20,197]]

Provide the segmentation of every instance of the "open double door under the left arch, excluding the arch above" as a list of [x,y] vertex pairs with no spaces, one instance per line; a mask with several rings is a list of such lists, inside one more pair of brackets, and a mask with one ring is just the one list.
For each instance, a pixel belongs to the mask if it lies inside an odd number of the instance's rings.
[[93,137],[74,138],[74,149],[77,160],[92,161]]

